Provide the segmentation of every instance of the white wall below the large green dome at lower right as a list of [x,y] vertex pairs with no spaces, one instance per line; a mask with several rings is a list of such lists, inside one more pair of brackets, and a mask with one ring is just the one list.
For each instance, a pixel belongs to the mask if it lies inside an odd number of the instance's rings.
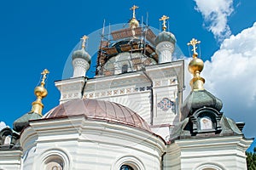
[[245,151],[251,139],[242,136],[176,140],[167,148],[164,169],[247,169]]

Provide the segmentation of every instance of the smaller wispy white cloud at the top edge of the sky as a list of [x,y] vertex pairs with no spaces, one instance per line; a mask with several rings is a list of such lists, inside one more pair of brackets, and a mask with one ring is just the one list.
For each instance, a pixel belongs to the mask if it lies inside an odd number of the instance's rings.
[[233,0],[195,0],[195,9],[203,15],[204,26],[212,31],[214,37],[222,42],[230,37],[228,17],[234,11]]

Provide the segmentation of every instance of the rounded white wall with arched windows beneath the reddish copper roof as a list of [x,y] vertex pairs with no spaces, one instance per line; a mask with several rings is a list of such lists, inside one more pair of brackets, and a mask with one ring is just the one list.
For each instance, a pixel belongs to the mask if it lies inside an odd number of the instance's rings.
[[[28,143],[35,146],[28,147]],[[121,163],[131,163],[141,170],[160,170],[166,147],[153,133],[122,124],[88,121],[84,116],[31,122],[20,144],[28,153],[24,169],[38,169],[52,154],[66,160],[66,169],[116,170]]]

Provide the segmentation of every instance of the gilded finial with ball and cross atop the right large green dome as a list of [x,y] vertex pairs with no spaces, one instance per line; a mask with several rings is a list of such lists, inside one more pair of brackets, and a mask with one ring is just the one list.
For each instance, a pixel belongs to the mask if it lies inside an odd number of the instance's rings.
[[197,58],[196,53],[196,44],[199,44],[200,41],[197,41],[195,38],[193,38],[188,45],[191,45],[193,47],[193,59],[189,62],[189,72],[193,74],[193,78],[190,81],[190,86],[192,90],[202,90],[204,89],[203,85],[205,83],[205,79],[200,76],[201,71],[204,68],[204,62],[201,59]]

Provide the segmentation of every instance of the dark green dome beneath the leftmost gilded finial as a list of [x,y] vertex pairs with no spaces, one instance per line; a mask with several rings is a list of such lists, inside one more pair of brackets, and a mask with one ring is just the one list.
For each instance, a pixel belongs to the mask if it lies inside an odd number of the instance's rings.
[[38,115],[38,113],[34,113],[32,111],[28,112],[14,122],[13,128],[16,132],[20,133],[25,127],[29,125],[30,120],[36,119],[41,119],[41,116]]

